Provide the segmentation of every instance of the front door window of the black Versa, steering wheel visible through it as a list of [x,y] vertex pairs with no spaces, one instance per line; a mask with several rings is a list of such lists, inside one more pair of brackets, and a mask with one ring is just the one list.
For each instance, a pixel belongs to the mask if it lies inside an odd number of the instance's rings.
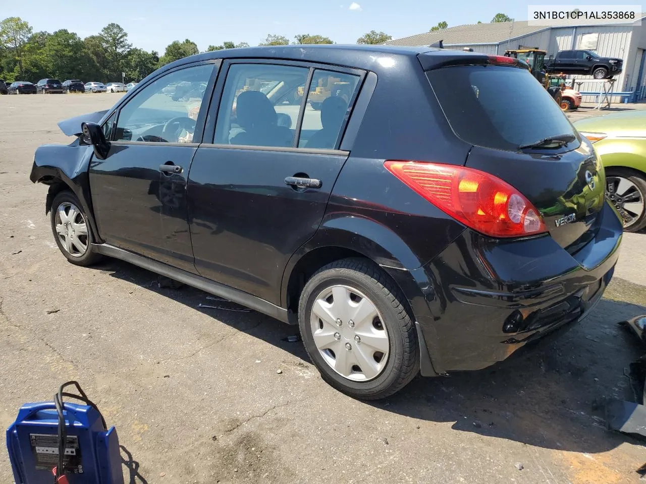
[[121,108],[115,141],[192,143],[213,64],[176,70],[145,86]]

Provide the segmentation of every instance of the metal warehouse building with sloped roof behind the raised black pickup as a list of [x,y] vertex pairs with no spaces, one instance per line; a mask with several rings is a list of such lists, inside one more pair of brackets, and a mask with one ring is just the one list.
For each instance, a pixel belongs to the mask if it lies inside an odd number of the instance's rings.
[[[643,17],[646,19],[646,16]],[[635,92],[634,99],[646,98],[646,20],[642,25],[532,26],[527,21],[482,23],[411,35],[387,42],[391,45],[422,46],[443,41],[444,48],[471,47],[483,54],[505,54],[520,46],[537,47],[555,55],[559,50],[593,50],[601,57],[623,59],[623,72],[616,76],[614,92]],[[592,76],[576,77],[581,81]],[[584,82],[581,92],[599,92],[601,82]],[[585,101],[594,101],[592,96]],[[613,102],[620,99],[615,97]]]

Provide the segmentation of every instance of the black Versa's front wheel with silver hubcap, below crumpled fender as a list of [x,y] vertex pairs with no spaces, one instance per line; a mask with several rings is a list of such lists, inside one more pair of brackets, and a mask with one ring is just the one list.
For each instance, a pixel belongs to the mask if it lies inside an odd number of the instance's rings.
[[92,231],[76,195],[67,190],[52,201],[50,214],[56,245],[72,264],[89,266],[101,260],[92,248]]

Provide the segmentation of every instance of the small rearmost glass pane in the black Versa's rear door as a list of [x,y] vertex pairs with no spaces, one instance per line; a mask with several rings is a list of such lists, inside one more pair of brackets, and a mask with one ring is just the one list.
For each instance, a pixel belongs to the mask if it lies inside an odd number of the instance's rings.
[[300,148],[336,148],[358,84],[359,76],[353,74],[314,71],[298,140]]

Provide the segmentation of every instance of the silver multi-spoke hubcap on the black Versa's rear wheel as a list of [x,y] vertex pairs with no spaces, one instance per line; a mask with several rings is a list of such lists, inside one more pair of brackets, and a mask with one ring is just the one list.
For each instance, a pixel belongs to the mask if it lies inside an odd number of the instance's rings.
[[368,297],[348,286],[322,290],[310,316],[312,336],[329,367],[353,381],[377,378],[386,367],[386,325]]

